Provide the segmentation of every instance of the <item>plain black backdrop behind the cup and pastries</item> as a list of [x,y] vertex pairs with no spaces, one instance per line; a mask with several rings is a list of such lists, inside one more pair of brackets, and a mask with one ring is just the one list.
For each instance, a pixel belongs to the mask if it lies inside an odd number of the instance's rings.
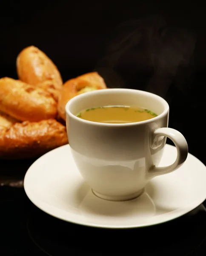
[[182,132],[189,152],[206,163],[205,3],[0,3],[0,77],[17,78],[18,53],[34,45],[52,58],[64,81],[97,70],[109,87],[159,94],[169,102],[170,127]]

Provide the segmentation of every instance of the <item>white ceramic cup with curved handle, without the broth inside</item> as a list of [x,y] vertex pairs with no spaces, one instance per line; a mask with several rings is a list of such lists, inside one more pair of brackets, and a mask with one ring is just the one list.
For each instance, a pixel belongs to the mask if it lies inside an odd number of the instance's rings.
[[[105,105],[129,105],[157,113],[152,119],[111,124],[77,117],[83,109]],[[103,89],[75,96],[66,105],[66,127],[74,161],[95,195],[111,201],[139,196],[155,176],[180,167],[187,158],[183,135],[168,128],[169,105],[152,93],[132,89]],[[166,137],[177,148],[170,166],[158,167]]]

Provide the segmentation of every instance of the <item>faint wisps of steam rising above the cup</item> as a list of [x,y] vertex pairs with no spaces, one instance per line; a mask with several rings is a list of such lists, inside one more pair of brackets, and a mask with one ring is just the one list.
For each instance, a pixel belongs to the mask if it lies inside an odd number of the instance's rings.
[[167,26],[159,16],[127,21],[112,32],[96,70],[109,87],[166,97],[172,85],[183,90],[192,76],[195,42],[192,32]]

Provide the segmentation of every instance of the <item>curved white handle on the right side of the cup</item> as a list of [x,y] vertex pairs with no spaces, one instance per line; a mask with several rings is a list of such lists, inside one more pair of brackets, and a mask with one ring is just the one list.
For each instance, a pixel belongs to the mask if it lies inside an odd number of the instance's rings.
[[152,166],[148,172],[149,179],[158,175],[163,175],[163,174],[167,174],[175,171],[187,159],[188,145],[183,134],[181,134],[179,131],[175,129],[165,127],[165,128],[158,128],[154,131],[154,139],[160,136],[168,137],[170,140],[173,141],[173,143],[177,148],[177,158],[175,162],[170,166],[164,166],[164,167]]

